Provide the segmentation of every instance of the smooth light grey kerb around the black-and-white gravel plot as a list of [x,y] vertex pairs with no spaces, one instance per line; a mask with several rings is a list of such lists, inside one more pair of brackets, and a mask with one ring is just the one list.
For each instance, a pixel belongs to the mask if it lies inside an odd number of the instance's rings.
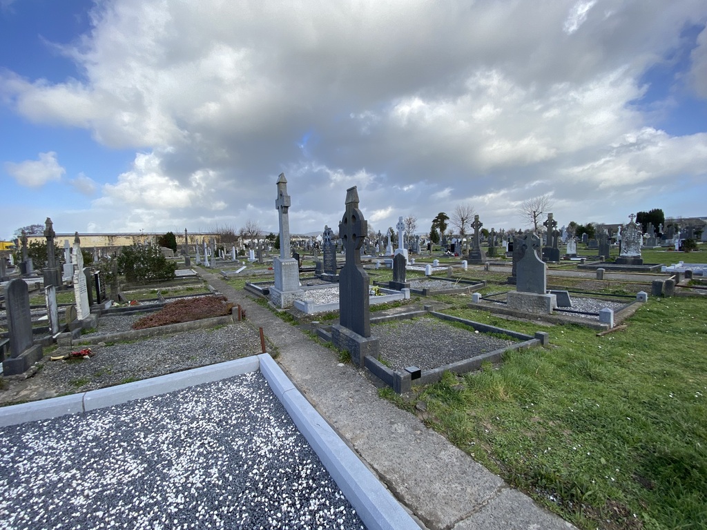
[[283,404],[298,430],[322,461],[329,475],[354,506],[369,530],[416,528],[408,512],[363,464],[356,453],[295,387],[268,353],[226,363],[153,377],[117,387],[92,390],[42,401],[0,408],[0,426],[47,420],[66,414],[83,414],[235,375],[260,372]]

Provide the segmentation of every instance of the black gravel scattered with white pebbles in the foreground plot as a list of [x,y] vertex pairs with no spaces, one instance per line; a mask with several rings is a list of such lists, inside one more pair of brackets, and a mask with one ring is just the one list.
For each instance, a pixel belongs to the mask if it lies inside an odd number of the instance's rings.
[[259,372],[0,436],[0,529],[365,528]]

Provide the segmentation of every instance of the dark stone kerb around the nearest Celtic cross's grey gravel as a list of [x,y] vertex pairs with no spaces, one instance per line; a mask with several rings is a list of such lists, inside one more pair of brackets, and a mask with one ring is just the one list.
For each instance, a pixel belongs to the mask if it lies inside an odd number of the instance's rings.
[[[510,329],[503,329],[498,326],[491,326],[489,324],[482,324],[481,322],[474,322],[473,320],[462,319],[460,317],[453,317],[449,314],[444,314],[432,310],[419,310],[411,311],[405,313],[391,314],[391,315],[381,315],[380,317],[370,317],[371,324],[380,324],[382,322],[392,322],[394,320],[408,320],[415,317],[436,317],[440,320],[445,320],[448,322],[460,322],[469,326],[474,331],[479,331],[479,333],[499,333],[505,334],[513,338],[519,339],[521,342],[515,343],[511,346],[506,346],[506,348],[498,348],[497,350],[490,351],[487,353],[482,353],[475,357],[457,361],[456,363],[450,363],[448,365],[440,366],[434,368],[433,370],[424,370],[419,372],[419,377],[413,379],[413,373],[407,370],[391,370],[389,367],[385,366],[378,359],[367,355],[363,359],[363,365],[366,369],[371,372],[375,377],[378,377],[382,382],[391,387],[393,391],[397,394],[404,394],[410,391],[412,388],[413,381],[415,384],[431,384],[439,382],[444,375],[444,372],[454,372],[456,374],[465,374],[467,372],[473,372],[474,370],[479,370],[481,368],[481,363],[489,361],[491,363],[498,363],[503,358],[503,354],[508,351],[522,350],[525,348],[531,348],[533,346],[544,346],[548,343],[548,334],[542,331],[538,331],[534,337],[526,335],[523,333],[518,333],[518,331],[511,331]],[[317,329],[317,335],[325,340],[331,340],[327,332],[323,329]]]

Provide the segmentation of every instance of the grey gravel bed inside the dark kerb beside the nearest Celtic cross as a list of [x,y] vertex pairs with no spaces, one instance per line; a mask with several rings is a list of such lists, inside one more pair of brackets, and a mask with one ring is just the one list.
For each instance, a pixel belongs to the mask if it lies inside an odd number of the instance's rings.
[[392,370],[402,370],[407,366],[432,370],[517,342],[470,328],[466,331],[431,317],[373,324],[371,335],[378,337],[380,358]]

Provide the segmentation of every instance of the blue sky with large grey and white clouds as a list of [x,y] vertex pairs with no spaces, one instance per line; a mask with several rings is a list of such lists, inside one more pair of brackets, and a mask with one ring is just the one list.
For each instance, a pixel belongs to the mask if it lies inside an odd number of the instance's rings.
[[0,0],[0,237],[707,216],[704,0]]

